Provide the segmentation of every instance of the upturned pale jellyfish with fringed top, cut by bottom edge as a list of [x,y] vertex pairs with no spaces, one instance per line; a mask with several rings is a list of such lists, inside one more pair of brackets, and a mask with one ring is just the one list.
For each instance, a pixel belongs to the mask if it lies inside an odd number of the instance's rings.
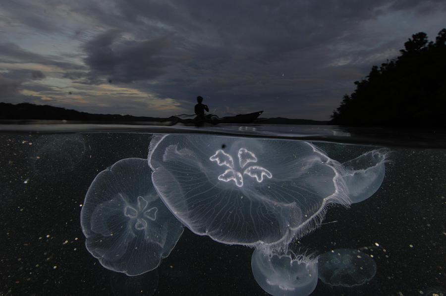
[[[289,254],[288,254],[289,253]],[[271,295],[307,296],[318,284],[317,257],[265,252],[256,249],[251,258],[252,274]]]

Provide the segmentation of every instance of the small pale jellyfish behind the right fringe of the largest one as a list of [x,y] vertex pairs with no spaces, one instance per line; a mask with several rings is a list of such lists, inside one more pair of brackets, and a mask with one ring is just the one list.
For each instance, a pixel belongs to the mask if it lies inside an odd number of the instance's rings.
[[388,155],[386,149],[377,149],[342,164],[345,168],[342,175],[352,203],[369,198],[380,188]]

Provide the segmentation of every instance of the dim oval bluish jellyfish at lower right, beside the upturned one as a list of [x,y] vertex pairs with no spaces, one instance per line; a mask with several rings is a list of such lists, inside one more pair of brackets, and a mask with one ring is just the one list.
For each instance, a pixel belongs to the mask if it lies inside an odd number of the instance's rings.
[[319,256],[319,278],[332,286],[358,286],[376,274],[376,263],[357,249],[335,249]]

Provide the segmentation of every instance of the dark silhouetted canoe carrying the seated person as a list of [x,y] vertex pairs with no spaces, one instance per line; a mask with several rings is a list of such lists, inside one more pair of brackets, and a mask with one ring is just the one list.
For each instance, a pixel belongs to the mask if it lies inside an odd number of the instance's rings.
[[171,117],[169,118],[174,124],[175,123],[184,123],[186,125],[194,124],[194,125],[200,125],[204,123],[210,123],[210,124],[219,124],[219,123],[250,123],[254,121],[256,118],[258,118],[263,111],[248,113],[248,114],[239,114],[236,116],[225,116],[223,118],[219,118],[216,115],[208,114],[205,115],[204,118],[187,118],[182,119],[179,117]]

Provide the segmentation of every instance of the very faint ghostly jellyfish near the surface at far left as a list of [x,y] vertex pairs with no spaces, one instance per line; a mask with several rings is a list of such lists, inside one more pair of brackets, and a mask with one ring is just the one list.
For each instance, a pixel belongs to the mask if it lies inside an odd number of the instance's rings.
[[85,142],[79,134],[40,136],[31,146],[29,158],[34,171],[56,175],[73,171],[85,153]]

